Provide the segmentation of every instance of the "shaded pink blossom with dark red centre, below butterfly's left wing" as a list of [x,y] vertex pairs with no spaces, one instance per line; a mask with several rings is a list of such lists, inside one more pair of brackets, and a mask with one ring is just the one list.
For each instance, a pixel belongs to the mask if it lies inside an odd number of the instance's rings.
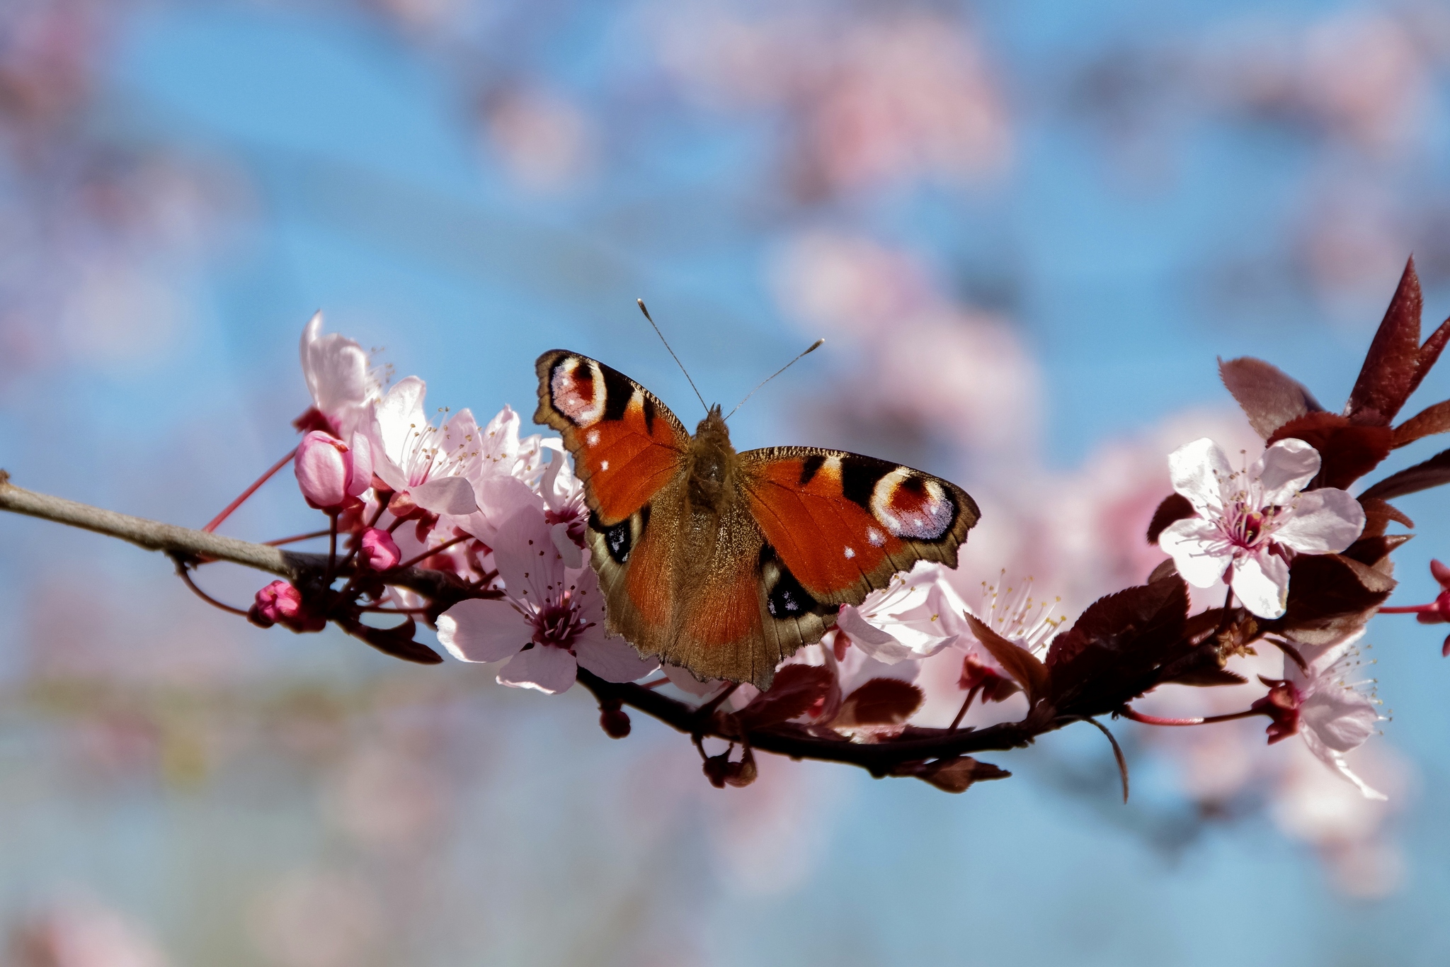
[[438,641],[461,661],[503,661],[499,683],[566,692],[576,668],[634,681],[660,667],[621,638],[605,636],[592,570],[566,567],[550,525],[534,507],[499,528],[493,548],[506,597],[460,602],[438,619]]

